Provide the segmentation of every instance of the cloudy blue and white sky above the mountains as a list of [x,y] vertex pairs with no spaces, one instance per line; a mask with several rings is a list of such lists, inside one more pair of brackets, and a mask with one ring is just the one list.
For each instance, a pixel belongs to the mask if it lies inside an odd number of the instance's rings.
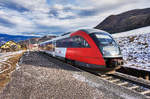
[[60,34],[93,28],[109,15],[148,7],[149,0],[0,0],[0,33]]

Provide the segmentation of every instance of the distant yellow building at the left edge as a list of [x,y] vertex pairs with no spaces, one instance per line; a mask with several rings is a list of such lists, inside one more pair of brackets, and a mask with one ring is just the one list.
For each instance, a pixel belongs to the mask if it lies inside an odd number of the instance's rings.
[[1,47],[2,52],[10,52],[10,51],[17,51],[21,49],[21,46],[14,41],[8,41],[3,44]]

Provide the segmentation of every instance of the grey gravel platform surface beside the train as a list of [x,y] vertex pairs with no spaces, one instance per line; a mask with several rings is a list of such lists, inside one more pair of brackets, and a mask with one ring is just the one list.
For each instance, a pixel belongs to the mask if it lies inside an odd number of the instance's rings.
[[37,52],[25,53],[0,99],[102,99],[102,92],[72,77],[80,72]]

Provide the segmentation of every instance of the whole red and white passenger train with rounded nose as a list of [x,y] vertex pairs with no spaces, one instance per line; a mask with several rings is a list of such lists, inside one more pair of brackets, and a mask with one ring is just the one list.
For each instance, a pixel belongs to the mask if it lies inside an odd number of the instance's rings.
[[41,42],[39,49],[81,67],[109,73],[123,65],[120,47],[111,34],[98,29],[80,29]]

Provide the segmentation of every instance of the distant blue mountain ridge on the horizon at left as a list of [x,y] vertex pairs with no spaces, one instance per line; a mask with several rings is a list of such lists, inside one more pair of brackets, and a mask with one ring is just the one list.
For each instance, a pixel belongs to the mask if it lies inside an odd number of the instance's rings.
[[22,40],[27,40],[30,38],[33,38],[35,36],[20,36],[20,35],[8,35],[8,34],[0,34],[0,45],[2,45],[3,43],[13,40],[15,42],[19,42]]

